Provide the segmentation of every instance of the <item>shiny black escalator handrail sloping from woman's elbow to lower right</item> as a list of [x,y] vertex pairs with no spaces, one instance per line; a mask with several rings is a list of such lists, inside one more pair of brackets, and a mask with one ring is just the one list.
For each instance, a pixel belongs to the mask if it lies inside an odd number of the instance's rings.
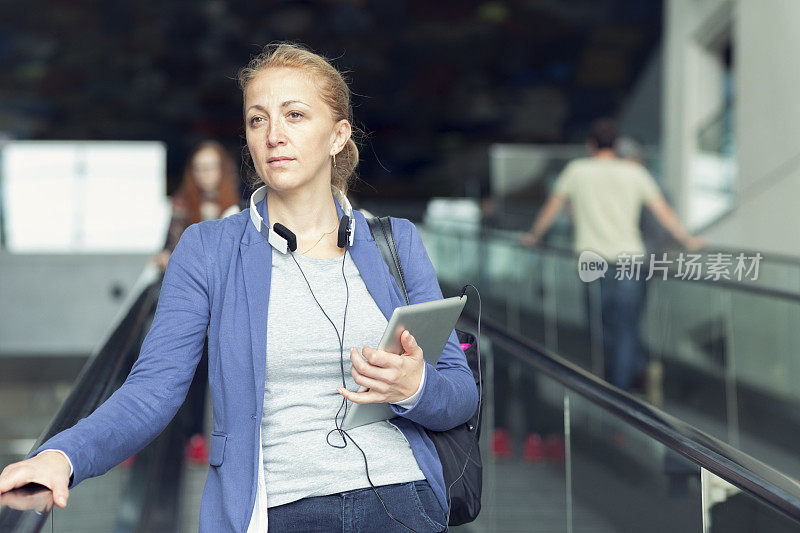
[[[465,310],[462,318],[473,326],[477,324],[477,316],[472,311]],[[481,318],[481,332],[522,363],[800,522],[800,483],[791,477],[638,400],[490,318]]]

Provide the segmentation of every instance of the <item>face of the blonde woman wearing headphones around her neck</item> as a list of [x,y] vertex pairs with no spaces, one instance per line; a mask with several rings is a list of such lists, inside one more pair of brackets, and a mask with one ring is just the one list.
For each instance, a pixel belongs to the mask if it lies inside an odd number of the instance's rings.
[[334,122],[309,75],[268,68],[250,80],[244,99],[247,147],[264,183],[276,191],[330,184],[330,157],[350,138],[350,123]]

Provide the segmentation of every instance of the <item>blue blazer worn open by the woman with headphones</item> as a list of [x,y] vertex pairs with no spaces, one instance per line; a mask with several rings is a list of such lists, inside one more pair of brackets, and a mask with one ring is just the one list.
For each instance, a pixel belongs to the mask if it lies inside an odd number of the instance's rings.
[[[343,212],[334,199],[341,217]],[[266,199],[257,204],[269,223]],[[364,215],[354,212],[349,253],[387,320],[405,305]],[[406,219],[391,219],[412,303],[442,298],[422,239]],[[272,246],[248,210],[192,224],[164,274],[155,318],[125,383],[91,415],[43,443],[74,467],[70,487],[100,476],[144,448],[167,426],[186,396],[208,330],[214,428],[200,531],[266,531],[261,413],[266,371]],[[422,393],[411,409],[392,405],[420,469],[447,509],[442,467],[423,427],[447,430],[475,412],[478,392],[455,331],[434,368],[426,363]],[[269,379],[269,376],[266,376]]]

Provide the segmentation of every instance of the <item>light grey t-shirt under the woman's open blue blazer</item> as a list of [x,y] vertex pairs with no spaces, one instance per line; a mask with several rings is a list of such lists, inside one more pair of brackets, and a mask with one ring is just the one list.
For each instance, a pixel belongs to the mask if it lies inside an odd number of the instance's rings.
[[[317,259],[299,253],[294,258],[341,334],[347,297],[342,258]],[[350,375],[350,348],[355,346],[360,352],[365,344],[377,347],[387,320],[349,253],[344,264],[350,292],[344,374],[347,387],[356,390]],[[292,254],[274,250],[266,357],[261,439],[267,505],[369,487],[358,448],[349,439],[343,449],[326,442],[342,402],[336,391],[342,385],[337,334],[314,301]],[[388,421],[348,433],[366,453],[375,486],[425,479],[405,436]],[[342,444],[338,432],[330,434],[330,442]]]

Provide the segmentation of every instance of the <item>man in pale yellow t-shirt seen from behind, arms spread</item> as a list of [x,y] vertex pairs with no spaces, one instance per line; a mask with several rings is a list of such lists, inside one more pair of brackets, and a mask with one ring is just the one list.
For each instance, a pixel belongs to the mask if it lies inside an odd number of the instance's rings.
[[704,241],[686,232],[647,169],[616,157],[616,138],[613,120],[599,119],[592,125],[591,156],[567,164],[520,242],[536,246],[570,200],[575,220],[576,254],[590,250],[609,263],[608,274],[599,279],[603,346],[609,367],[606,378],[617,387],[629,390],[646,364],[638,339],[644,276],[615,279],[613,273],[624,254],[645,254],[639,230],[642,206],[647,206],[658,222],[687,249],[696,250]]

